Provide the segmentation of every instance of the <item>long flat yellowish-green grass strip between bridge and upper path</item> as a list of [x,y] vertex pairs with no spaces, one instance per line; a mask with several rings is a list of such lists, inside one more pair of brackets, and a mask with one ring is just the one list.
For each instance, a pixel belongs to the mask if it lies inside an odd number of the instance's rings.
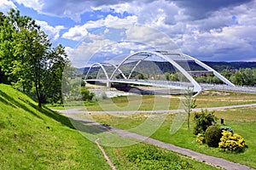
[[[195,97],[197,108],[217,107],[225,105],[245,105],[256,103],[255,94],[204,91]],[[66,105],[65,105],[66,106]],[[94,103],[84,103],[86,111],[157,111],[177,110],[183,107],[183,98],[180,96],[119,96]],[[67,106],[68,108],[68,106]],[[54,107],[53,107],[54,109]]]

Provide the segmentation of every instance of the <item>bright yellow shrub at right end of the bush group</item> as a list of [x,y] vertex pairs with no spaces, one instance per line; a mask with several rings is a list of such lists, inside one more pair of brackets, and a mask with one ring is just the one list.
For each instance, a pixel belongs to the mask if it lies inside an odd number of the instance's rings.
[[222,134],[223,136],[218,143],[219,150],[236,152],[245,150],[245,140],[239,134],[231,133],[230,131],[223,131]]

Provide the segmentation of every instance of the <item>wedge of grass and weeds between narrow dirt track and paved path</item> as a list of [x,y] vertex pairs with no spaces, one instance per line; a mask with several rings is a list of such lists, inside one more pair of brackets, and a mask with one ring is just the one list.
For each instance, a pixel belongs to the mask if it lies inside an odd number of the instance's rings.
[[[151,144],[134,144],[123,148],[105,148],[113,164],[119,170],[131,169],[217,169],[205,163],[180,156],[170,150],[160,149]],[[160,155],[158,154],[160,153]],[[136,159],[137,158],[137,159]],[[135,159],[135,161],[132,161]],[[166,164],[171,168],[166,168]],[[175,167],[176,164],[178,166]],[[183,168],[180,167],[183,165]],[[145,166],[145,167],[143,167]],[[157,167],[159,166],[159,167]],[[157,168],[156,168],[157,167]]]

